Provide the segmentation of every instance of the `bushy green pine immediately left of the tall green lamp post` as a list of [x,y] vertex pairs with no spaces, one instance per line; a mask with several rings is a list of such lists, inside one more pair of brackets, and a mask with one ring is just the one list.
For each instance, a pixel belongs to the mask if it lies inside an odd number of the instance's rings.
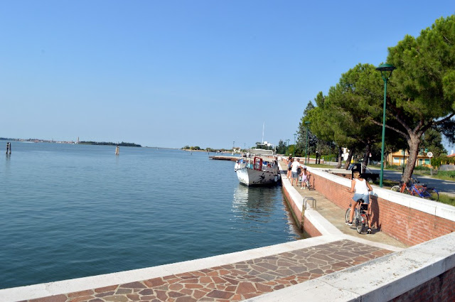
[[[381,139],[380,128],[373,123],[374,115],[380,115],[376,105],[382,94],[379,80],[380,75],[373,65],[358,64],[341,75],[327,97],[319,96],[319,99],[323,98],[323,108],[312,115],[311,129],[318,136],[333,135],[332,139],[338,146],[350,149],[345,168],[348,168],[355,150],[363,152],[366,165],[373,145]],[[341,166],[341,161],[338,166]]]

